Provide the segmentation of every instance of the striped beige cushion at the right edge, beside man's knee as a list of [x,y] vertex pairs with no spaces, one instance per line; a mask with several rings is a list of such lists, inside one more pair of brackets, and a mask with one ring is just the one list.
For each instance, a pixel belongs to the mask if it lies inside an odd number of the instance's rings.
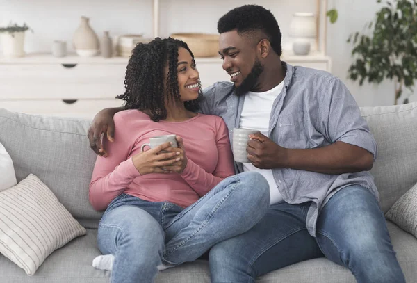
[[385,216],[417,238],[417,184],[402,195]]

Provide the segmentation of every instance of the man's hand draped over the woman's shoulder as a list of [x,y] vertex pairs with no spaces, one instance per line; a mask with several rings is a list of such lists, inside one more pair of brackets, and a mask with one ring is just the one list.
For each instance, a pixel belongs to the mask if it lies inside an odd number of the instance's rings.
[[104,134],[103,138],[107,138],[108,141],[113,142],[115,135],[115,123],[113,122],[113,115],[121,108],[106,108],[101,110],[95,118],[92,120],[91,126],[88,129],[88,140],[90,141],[90,147],[99,156],[107,157],[107,152],[103,148],[101,140],[101,134]]

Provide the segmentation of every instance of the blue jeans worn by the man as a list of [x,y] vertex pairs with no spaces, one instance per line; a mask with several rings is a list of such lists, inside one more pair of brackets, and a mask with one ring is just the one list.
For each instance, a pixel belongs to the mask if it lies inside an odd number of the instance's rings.
[[327,257],[350,269],[357,282],[403,283],[384,214],[368,189],[348,186],[318,217],[316,238],[306,230],[310,203],[273,204],[252,229],[211,248],[211,282],[255,278],[307,259]]

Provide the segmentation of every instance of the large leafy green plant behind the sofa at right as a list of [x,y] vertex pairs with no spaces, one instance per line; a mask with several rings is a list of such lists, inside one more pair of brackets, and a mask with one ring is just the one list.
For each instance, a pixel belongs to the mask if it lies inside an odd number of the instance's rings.
[[[394,103],[398,104],[404,87],[412,94],[417,79],[417,0],[385,1],[366,31],[347,40],[354,45],[348,76],[360,85],[366,80],[393,80]],[[402,102],[407,103],[404,97]]]

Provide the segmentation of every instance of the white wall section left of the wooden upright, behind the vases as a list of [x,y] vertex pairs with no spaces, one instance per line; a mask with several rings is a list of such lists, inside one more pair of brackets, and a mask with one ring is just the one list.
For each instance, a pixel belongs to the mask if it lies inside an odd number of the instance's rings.
[[72,35],[82,15],[99,38],[103,31],[152,36],[152,0],[0,0],[1,25],[12,20],[33,29],[26,33],[26,52],[50,51],[54,40],[65,40],[73,51]]

